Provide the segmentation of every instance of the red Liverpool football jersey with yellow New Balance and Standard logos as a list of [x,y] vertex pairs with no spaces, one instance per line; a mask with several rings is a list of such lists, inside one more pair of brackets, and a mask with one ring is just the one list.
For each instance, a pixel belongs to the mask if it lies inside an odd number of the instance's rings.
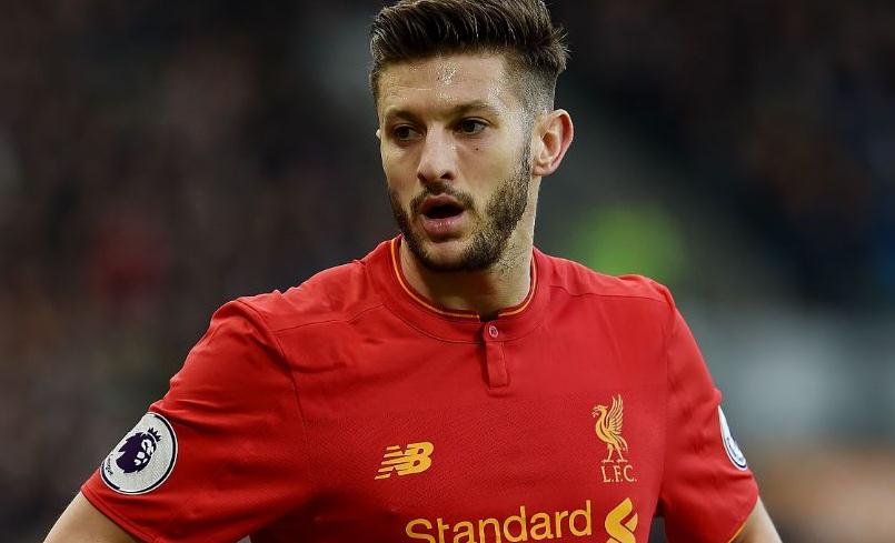
[[223,305],[82,486],[146,541],[729,541],[757,487],[667,290],[535,250],[489,322],[400,238]]

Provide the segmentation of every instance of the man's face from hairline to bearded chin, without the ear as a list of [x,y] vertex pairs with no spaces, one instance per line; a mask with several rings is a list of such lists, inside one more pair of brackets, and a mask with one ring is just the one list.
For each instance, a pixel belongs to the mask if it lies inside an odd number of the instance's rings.
[[496,54],[394,64],[379,79],[379,138],[391,208],[434,271],[489,268],[529,197],[530,114]]

